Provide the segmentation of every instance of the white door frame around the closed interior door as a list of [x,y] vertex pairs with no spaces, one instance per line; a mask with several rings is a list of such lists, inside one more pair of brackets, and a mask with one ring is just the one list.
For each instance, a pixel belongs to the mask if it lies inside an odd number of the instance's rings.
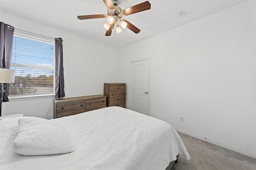
[[132,109],[132,63],[148,60],[148,115],[150,116],[150,57],[130,61],[130,110]]

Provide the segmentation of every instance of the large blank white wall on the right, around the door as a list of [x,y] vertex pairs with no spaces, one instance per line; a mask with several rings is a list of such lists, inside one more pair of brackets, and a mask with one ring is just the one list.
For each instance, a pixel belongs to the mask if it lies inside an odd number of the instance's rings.
[[122,81],[129,90],[130,61],[150,57],[151,116],[256,157],[255,9],[247,1],[123,48]]

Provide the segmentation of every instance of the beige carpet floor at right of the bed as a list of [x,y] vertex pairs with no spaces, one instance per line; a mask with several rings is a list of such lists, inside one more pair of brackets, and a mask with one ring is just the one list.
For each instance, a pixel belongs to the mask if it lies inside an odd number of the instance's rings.
[[256,159],[179,133],[190,160],[182,155],[172,170],[256,170]]

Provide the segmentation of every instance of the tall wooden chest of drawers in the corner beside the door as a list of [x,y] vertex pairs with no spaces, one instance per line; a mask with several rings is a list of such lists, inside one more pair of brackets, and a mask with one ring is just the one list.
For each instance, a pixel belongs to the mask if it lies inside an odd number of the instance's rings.
[[104,95],[107,96],[107,107],[120,106],[125,108],[125,83],[104,83]]

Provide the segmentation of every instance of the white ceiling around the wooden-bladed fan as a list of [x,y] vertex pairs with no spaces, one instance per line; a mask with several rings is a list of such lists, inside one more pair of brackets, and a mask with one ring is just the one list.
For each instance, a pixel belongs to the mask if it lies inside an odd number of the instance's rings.
[[[119,0],[126,9],[146,0]],[[224,10],[243,0],[149,0],[151,9],[123,17],[141,31],[126,28],[106,37],[106,18],[78,20],[77,16],[107,14],[103,0],[0,0],[0,10],[16,14],[116,48],[126,47],[180,25]],[[176,13],[184,12],[179,18]],[[15,27],[15,25],[13,25]],[[150,27],[152,27],[150,29]]]

